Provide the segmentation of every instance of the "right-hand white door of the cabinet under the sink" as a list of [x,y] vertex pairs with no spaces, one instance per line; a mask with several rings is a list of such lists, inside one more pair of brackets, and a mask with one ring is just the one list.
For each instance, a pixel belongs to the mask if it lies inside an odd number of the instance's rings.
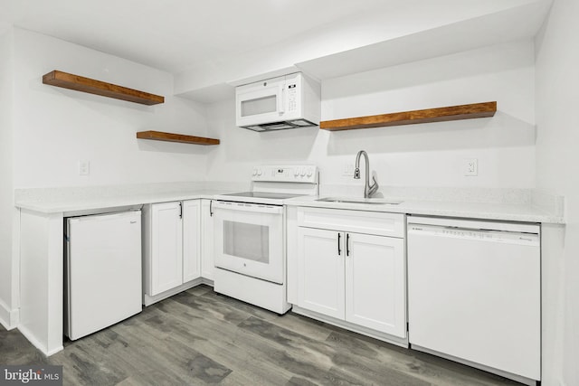
[[406,336],[404,242],[346,233],[346,321]]

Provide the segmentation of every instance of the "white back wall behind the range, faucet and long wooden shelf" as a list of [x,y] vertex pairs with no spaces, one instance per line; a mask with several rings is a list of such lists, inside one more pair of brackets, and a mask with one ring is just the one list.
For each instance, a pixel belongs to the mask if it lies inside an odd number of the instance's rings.
[[[535,185],[533,42],[513,42],[325,80],[322,120],[498,101],[494,118],[328,132],[254,133],[235,127],[233,100],[208,107],[209,179],[246,180],[253,165],[307,163],[322,184],[359,185],[343,175],[365,149],[381,185],[532,188]],[[465,158],[479,176],[465,177]]]

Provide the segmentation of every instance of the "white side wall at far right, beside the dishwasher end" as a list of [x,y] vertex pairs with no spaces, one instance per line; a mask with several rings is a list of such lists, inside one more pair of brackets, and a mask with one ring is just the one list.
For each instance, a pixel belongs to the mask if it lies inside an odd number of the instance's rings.
[[537,187],[566,199],[563,250],[544,261],[558,273],[553,283],[557,291],[544,305],[554,310],[557,324],[544,331],[555,346],[544,374],[548,385],[579,384],[578,14],[576,0],[555,0],[536,37]]

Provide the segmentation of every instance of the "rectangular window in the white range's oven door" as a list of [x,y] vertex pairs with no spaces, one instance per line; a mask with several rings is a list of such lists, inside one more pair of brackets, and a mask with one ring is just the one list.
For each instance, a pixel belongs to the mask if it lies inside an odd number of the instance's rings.
[[265,225],[223,221],[223,253],[270,263],[270,229]]

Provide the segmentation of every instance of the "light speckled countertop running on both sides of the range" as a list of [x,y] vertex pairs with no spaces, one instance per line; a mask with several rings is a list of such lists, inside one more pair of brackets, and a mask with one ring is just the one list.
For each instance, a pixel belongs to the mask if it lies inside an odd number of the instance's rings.
[[[114,187],[24,189],[15,192],[15,206],[40,213],[76,215],[82,211],[120,208],[154,202],[175,202],[212,199],[214,195],[247,190],[246,186],[202,184],[142,184]],[[325,194],[327,196],[330,194]],[[395,197],[399,204],[319,202],[317,196],[302,196],[284,200],[286,205],[334,208],[355,211],[397,212],[445,217],[460,217],[498,221],[546,222],[563,224],[563,212],[548,205],[525,202],[469,202],[456,196],[451,200]]]

